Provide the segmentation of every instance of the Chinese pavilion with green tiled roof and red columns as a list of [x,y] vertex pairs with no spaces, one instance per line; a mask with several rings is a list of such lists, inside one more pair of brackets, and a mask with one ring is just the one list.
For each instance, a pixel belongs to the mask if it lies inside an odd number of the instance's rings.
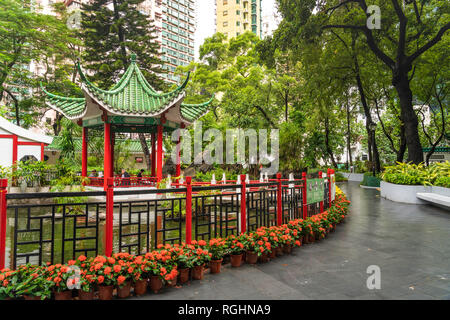
[[[213,100],[201,104],[185,104],[186,80],[175,90],[159,93],[147,82],[136,63],[136,55],[131,55],[131,63],[119,81],[109,90],[98,88],[90,82],[79,63],[84,98],[62,97],[42,90],[47,95],[46,103],[83,127],[82,176],[87,176],[88,130],[104,131],[104,185],[107,178],[114,176],[113,157],[116,132],[151,133],[152,177],[162,179],[163,132],[185,128],[208,112]],[[156,146],[157,145],[157,146]],[[155,152],[156,150],[156,152]],[[180,149],[176,176],[180,171]]]

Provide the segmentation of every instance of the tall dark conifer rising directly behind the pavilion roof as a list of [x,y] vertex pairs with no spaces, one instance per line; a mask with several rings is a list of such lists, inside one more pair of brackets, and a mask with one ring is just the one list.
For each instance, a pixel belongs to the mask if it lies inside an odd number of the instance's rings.
[[[112,86],[130,63],[130,52],[147,81],[157,90],[164,88],[159,44],[150,18],[139,10],[144,0],[94,0],[83,4],[81,37],[84,66],[100,86]],[[147,139],[139,134],[147,168],[150,152]]]

